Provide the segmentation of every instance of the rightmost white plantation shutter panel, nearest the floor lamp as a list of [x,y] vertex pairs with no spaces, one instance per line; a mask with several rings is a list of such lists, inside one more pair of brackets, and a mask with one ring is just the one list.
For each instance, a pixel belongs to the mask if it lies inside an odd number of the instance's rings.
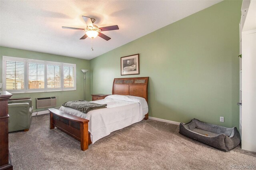
[[63,66],[64,88],[75,87],[75,68],[74,66]]

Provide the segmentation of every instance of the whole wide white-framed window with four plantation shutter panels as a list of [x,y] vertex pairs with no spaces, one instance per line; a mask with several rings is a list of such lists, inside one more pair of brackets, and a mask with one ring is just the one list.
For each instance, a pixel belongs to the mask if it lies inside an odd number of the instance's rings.
[[76,65],[3,56],[3,89],[11,93],[76,90]]

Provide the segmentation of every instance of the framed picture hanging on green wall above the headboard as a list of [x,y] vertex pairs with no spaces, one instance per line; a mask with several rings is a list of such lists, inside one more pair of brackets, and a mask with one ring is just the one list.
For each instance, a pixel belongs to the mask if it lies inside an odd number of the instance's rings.
[[121,75],[140,74],[139,54],[121,57]]

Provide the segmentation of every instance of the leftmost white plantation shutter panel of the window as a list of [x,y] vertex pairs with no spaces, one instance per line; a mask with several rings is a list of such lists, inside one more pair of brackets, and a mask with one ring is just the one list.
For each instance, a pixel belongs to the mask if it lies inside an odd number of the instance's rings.
[[6,90],[24,90],[24,67],[22,61],[6,61]]

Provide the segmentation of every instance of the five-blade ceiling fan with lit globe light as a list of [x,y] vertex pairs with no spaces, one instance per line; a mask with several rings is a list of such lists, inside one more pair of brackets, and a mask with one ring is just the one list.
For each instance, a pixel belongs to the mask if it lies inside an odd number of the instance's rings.
[[93,25],[93,23],[95,22],[94,18],[90,18],[88,16],[82,16],[82,18],[84,19],[84,21],[86,23],[86,28],[73,28],[73,27],[62,27],[62,28],[86,31],[86,34],[84,34],[84,36],[82,36],[80,38],[80,40],[84,40],[87,37],[93,39],[93,38],[96,38],[97,36],[99,36],[106,41],[110,40],[111,38],[106,36],[105,34],[102,34],[101,33],[102,31],[119,30],[117,25],[98,28],[98,26]]

